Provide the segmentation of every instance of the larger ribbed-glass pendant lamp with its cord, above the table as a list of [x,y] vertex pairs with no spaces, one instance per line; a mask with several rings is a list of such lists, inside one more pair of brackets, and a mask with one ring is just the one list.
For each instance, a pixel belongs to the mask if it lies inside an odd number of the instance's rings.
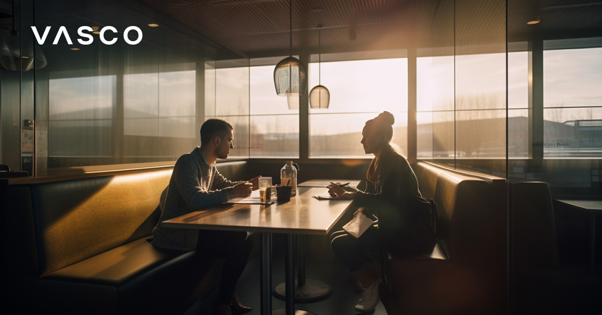
[[293,2],[288,1],[290,21],[290,57],[282,59],[274,69],[274,86],[279,96],[302,96],[307,92],[307,70],[293,57]]

